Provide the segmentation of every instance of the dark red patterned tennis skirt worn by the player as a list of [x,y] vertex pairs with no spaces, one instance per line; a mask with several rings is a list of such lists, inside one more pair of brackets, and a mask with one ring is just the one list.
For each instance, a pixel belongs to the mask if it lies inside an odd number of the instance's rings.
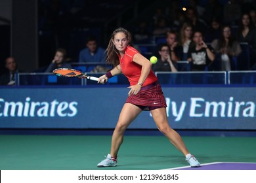
[[137,105],[142,110],[167,107],[165,97],[158,82],[143,86],[137,95],[130,95],[125,103]]

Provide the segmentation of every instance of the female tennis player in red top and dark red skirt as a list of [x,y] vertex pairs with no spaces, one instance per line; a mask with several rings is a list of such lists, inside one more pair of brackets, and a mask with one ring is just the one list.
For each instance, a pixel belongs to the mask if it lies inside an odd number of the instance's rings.
[[190,163],[191,167],[200,167],[198,160],[188,152],[181,136],[169,126],[165,97],[158,83],[158,78],[151,69],[152,63],[129,45],[129,32],[126,29],[119,27],[112,33],[108,48],[106,48],[106,54],[106,61],[112,63],[114,69],[106,75],[100,76],[98,82],[103,84],[101,80],[108,80],[112,76],[123,73],[128,78],[131,86],[129,86],[127,101],[119,114],[112,135],[110,154],[97,166],[117,166],[117,152],[123,142],[125,129],[142,110],[150,110],[161,133],[186,156],[186,161]]

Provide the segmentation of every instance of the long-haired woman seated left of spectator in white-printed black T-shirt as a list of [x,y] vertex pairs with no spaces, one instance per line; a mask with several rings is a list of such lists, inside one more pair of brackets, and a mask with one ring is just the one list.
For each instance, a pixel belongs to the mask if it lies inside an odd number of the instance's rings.
[[191,46],[190,43],[192,42],[192,25],[184,23],[180,32],[180,44],[183,48],[182,60],[186,60],[188,58],[188,48]]

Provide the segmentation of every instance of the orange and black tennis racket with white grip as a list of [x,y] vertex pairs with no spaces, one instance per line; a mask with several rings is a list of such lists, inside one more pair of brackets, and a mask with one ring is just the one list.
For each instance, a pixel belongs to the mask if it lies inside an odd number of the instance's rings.
[[[58,68],[54,69],[54,75],[57,76],[64,76],[64,77],[77,77],[77,78],[87,78],[89,80],[98,81],[97,77],[94,76],[87,76],[85,73],[75,70],[75,69],[68,69],[68,68]],[[101,80],[103,83],[106,83],[106,80]]]

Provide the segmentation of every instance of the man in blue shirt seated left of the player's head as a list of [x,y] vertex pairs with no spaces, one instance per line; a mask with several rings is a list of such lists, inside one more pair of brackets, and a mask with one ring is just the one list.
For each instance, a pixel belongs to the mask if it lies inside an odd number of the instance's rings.
[[96,37],[90,36],[86,41],[87,48],[79,52],[79,62],[102,62],[105,63],[105,50],[98,46]]

